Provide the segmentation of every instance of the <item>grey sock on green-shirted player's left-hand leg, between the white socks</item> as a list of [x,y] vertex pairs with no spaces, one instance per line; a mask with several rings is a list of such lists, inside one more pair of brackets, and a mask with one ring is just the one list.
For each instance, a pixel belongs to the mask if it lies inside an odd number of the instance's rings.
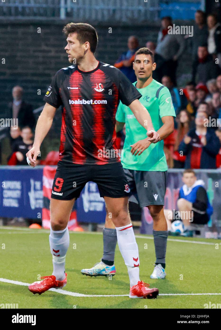
[[115,248],[117,245],[116,229],[103,229],[103,257],[102,260],[114,261]]

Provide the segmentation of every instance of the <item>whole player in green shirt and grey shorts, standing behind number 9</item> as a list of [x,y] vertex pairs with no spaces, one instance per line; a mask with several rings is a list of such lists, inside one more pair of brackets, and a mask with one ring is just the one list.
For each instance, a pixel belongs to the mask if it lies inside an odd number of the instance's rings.
[[[129,200],[137,202],[140,207],[148,207],[153,218],[156,261],[151,278],[164,279],[168,230],[163,212],[167,174],[163,139],[173,132],[176,115],[169,89],[152,78],[156,63],[150,49],[137,50],[133,68],[137,77],[137,82],[133,84],[142,94],[140,102],[150,113],[153,128],[159,134],[160,142],[153,144],[148,141],[149,138],[144,139],[145,128],[139,124],[130,108],[121,102],[116,113],[116,131],[123,129],[125,124],[126,135],[121,163],[130,188]],[[116,273],[114,253],[117,234],[108,211],[103,229],[103,243],[101,262],[91,269],[82,269],[82,274],[104,276]]]

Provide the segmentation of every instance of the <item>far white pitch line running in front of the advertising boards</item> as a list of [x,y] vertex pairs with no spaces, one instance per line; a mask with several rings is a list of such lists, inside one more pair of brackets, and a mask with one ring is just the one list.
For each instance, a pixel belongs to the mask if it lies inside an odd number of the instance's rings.
[[[49,233],[50,231],[48,229],[36,229],[36,231],[34,231],[35,229],[32,229],[32,228],[16,228],[16,227],[0,227],[0,230],[1,229],[8,229],[8,230],[21,230],[21,231],[26,231],[26,233],[19,233],[19,234],[40,234],[40,233]],[[69,231],[70,234],[89,234],[89,235],[103,235],[102,232],[85,232],[85,231]],[[9,232],[8,234],[16,234],[16,233],[12,233],[12,232]],[[149,237],[149,236],[141,236],[141,235],[135,235],[136,238],[143,238],[143,239],[146,239],[146,240],[153,240],[153,237]],[[221,243],[211,243],[211,242],[201,242],[201,241],[190,241],[190,240],[179,240],[179,239],[175,239],[175,238],[168,238],[167,241],[170,241],[170,242],[181,242],[181,243],[193,243],[193,244],[204,244],[204,245],[214,245],[214,244],[219,244],[221,245]],[[219,240],[217,240],[219,241]]]

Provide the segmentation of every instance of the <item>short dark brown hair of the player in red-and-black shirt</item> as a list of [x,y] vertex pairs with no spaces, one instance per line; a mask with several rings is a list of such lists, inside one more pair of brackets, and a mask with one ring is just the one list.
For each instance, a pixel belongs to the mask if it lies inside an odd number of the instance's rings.
[[97,49],[98,36],[95,28],[86,23],[68,23],[63,28],[63,32],[66,37],[68,37],[69,33],[77,33],[77,39],[80,44],[83,45],[86,41],[90,43],[90,49],[94,54]]

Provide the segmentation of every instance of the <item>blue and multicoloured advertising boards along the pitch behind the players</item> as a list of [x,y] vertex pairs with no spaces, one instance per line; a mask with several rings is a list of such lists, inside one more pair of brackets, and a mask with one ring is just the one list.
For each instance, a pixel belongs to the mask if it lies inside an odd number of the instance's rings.
[[[0,217],[41,219],[46,227],[49,220],[50,193],[55,170],[56,166],[37,166],[36,168],[0,166]],[[179,188],[183,184],[182,172],[179,169],[168,170],[166,209],[177,210]],[[221,228],[221,171],[218,169],[196,170],[196,175],[197,179],[205,182],[208,198],[214,210],[208,227],[211,230],[217,230]],[[103,223],[105,221],[105,203],[99,196],[96,183],[88,182],[75,204],[76,213],[73,213],[73,218],[77,217],[78,222]],[[152,218],[146,208],[144,213],[143,221],[151,224]]]

